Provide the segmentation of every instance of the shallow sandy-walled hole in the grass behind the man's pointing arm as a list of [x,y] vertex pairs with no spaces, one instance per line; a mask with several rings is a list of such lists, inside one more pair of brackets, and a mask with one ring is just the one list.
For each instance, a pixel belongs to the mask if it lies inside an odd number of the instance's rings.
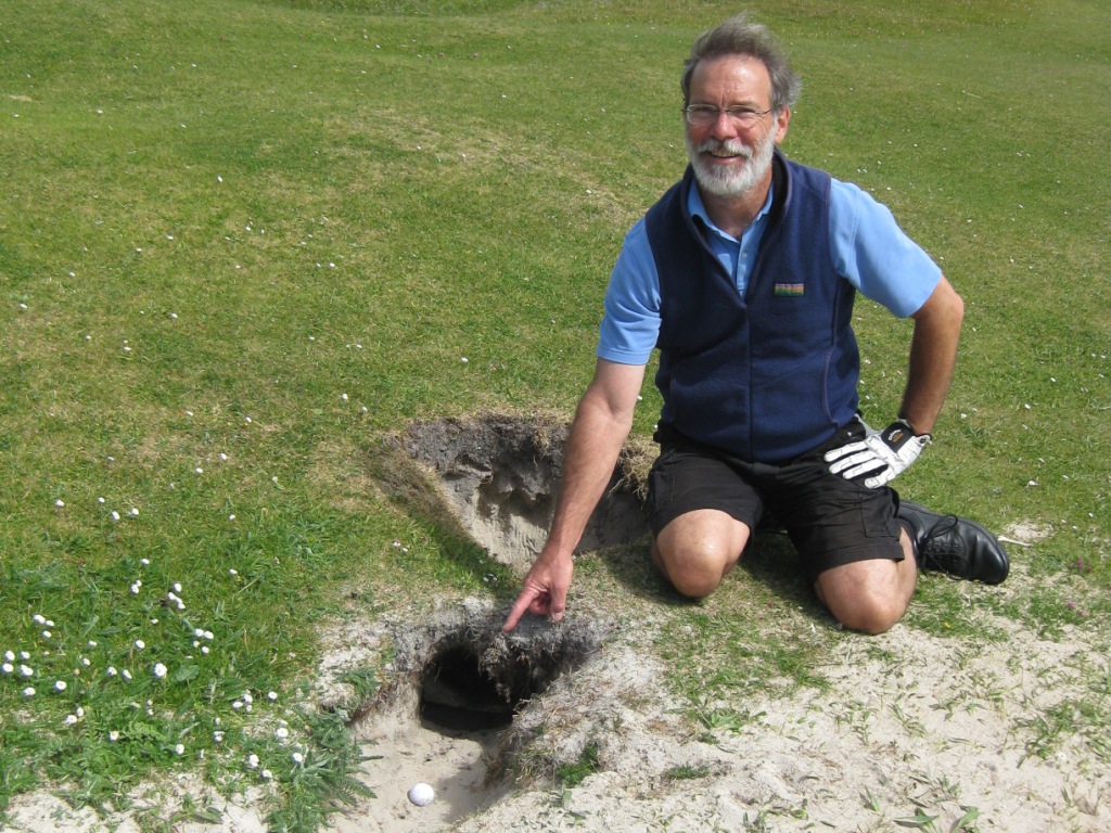
[[[430,464],[471,539],[504,564],[528,569],[556,510],[565,425],[504,416],[440,420],[409,430],[409,455]],[[580,551],[633,543],[648,532],[644,449],[627,446],[598,504]]]

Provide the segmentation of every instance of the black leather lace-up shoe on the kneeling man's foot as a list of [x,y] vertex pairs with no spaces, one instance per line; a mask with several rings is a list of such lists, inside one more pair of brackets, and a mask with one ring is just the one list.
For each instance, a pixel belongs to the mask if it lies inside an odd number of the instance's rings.
[[1007,578],[1007,551],[975,521],[939,515],[910,501],[900,501],[899,520],[914,544],[920,569],[985,584],[999,584]]

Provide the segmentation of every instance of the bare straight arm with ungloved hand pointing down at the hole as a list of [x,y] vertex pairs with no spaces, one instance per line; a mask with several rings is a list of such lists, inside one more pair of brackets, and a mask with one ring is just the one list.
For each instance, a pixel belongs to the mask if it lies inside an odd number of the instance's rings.
[[598,360],[571,425],[556,516],[548,541],[524,578],[524,585],[506,620],[504,630],[517,626],[526,611],[563,618],[567,590],[573,571],[571,555],[590,515],[601,500],[621,446],[632,428],[633,411],[644,365]]

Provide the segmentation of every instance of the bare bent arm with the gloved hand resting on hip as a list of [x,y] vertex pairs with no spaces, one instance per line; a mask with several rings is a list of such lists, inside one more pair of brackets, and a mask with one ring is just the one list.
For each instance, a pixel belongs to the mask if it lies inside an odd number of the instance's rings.
[[915,434],[929,433],[941,413],[957,367],[964,302],[942,277],[914,319],[910,371],[899,415]]

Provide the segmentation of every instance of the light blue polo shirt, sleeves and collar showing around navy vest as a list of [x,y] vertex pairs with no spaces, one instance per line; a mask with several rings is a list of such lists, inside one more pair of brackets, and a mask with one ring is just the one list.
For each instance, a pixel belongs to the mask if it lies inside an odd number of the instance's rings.
[[[744,293],[760,241],[768,228],[768,201],[738,240],[710,220],[697,187],[688,210],[701,218],[714,254]],[[922,308],[941,280],[941,269],[899,228],[891,211],[859,187],[832,180],[830,252],[838,272],[867,298],[907,318]],[[660,332],[660,277],[641,218],[625,235],[605,291],[598,357],[620,364],[645,364]]]

